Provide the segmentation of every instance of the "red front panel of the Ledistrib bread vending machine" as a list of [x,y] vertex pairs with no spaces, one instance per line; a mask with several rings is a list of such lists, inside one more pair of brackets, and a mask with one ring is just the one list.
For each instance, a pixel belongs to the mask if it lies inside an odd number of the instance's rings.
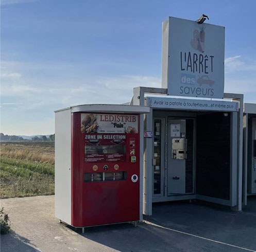
[[72,114],[72,225],[140,219],[139,116]]

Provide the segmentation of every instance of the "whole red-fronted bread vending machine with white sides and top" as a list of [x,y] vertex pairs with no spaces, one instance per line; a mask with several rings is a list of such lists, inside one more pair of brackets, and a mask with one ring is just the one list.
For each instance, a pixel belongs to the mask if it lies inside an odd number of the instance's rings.
[[139,114],[148,107],[95,106],[56,112],[56,217],[75,227],[139,221]]

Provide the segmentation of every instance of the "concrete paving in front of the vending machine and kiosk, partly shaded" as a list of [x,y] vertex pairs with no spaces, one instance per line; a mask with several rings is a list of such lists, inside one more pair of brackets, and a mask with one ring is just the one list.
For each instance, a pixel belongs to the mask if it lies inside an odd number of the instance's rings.
[[147,223],[136,228],[117,224],[87,228],[84,234],[59,224],[54,196],[5,199],[1,205],[13,229],[1,236],[5,252],[256,250],[256,197],[249,198],[243,212],[202,202],[157,204]]

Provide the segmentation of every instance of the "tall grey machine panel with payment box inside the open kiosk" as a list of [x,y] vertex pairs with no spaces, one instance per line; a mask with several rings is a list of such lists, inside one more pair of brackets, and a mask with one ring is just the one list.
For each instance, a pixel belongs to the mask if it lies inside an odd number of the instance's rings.
[[186,120],[168,120],[168,181],[167,192],[185,194],[186,185]]

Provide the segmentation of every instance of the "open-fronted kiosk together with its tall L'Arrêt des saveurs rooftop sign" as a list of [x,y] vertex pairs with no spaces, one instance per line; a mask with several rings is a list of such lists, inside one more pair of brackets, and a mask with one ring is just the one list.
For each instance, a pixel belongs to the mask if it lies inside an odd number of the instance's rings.
[[150,107],[141,115],[146,215],[154,202],[192,199],[242,210],[243,95],[224,93],[224,48],[225,27],[163,23],[162,88],[135,87],[130,102]]

